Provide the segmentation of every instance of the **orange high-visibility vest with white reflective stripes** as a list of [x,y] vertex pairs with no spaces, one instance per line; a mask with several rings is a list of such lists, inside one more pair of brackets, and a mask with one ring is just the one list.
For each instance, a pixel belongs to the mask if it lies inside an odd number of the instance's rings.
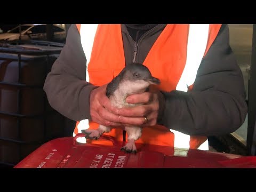
[[[125,67],[121,25],[77,24],[76,26],[87,59],[87,76],[89,75],[90,83],[98,86],[109,83]],[[170,92],[193,89],[201,60],[217,37],[220,27],[219,24],[169,24],[164,28],[143,62],[151,74],[160,79],[161,84],[157,86],[159,90]],[[74,134],[78,133],[78,125],[79,122]],[[89,129],[97,129],[98,126],[97,123],[89,123]],[[167,129],[161,125],[144,127],[141,138],[136,142],[180,147],[175,143],[180,139],[178,135],[182,133],[173,129],[175,127]],[[115,137],[116,140],[123,140],[122,129],[112,129],[105,134]],[[188,141],[180,139],[181,143],[187,142],[187,148],[190,149],[197,149],[207,140],[206,137],[189,135],[185,135],[185,138],[188,138]],[[107,140],[87,140],[87,142],[112,145]]]

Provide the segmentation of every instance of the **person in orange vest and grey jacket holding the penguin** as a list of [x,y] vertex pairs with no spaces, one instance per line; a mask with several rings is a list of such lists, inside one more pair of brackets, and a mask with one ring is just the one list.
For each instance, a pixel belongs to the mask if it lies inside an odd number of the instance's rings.
[[[124,95],[132,107],[115,106],[107,86],[132,63],[160,84]],[[221,24],[71,25],[44,90],[55,110],[77,121],[75,134],[89,119],[87,133],[103,125],[111,131],[101,134],[127,141],[123,127],[142,127],[135,143],[187,149],[208,150],[207,137],[234,132],[247,113],[243,76]]]

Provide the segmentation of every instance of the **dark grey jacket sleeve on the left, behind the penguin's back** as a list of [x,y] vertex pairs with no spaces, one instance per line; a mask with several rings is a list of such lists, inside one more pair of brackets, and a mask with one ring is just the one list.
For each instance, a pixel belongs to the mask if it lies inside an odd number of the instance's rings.
[[85,79],[85,54],[76,25],[71,25],[66,45],[45,79],[44,91],[50,105],[74,121],[90,118],[89,97],[97,86]]

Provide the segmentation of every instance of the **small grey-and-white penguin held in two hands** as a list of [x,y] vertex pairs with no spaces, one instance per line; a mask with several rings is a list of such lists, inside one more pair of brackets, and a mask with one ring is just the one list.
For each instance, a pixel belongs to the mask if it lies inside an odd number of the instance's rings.
[[[160,84],[158,78],[153,77],[149,69],[140,63],[130,63],[107,85],[106,95],[110,99],[111,105],[122,107],[134,107],[141,104],[129,104],[126,98],[131,94],[145,92],[149,85]],[[110,132],[112,127],[99,125],[97,130],[83,130],[86,139],[99,139],[103,133]],[[136,153],[135,141],[141,137],[142,127],[125,126],[128,141],[121,148],[125,153]]]

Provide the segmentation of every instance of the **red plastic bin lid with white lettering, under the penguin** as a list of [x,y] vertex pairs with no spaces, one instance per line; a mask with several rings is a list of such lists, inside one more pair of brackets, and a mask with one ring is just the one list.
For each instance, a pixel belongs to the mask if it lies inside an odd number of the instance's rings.
[[[77,137],[84,137],[78,134]],[[76,138],[77,138],[76,137]],[[49,141],[23,159],[15,168],[220,168],[256,167],[256,157],[187,150],[137,143],[137,154],[125,154],[123,142],[110,139],[113,146],[77,144],[67,137]]]

